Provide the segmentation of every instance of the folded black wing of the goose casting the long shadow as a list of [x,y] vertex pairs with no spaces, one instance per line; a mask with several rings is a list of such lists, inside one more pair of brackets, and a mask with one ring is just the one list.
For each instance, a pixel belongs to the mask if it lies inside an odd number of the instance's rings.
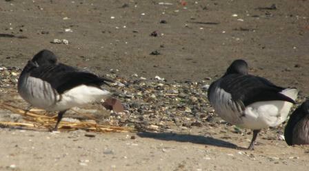
[[267,79],[250,74],[229,74],[221,78],[220,87],[232,95],[234,101],[242,101],[247,106],[257,101],[289,101],[290,97],[279,93],[284,88],[275,86]]

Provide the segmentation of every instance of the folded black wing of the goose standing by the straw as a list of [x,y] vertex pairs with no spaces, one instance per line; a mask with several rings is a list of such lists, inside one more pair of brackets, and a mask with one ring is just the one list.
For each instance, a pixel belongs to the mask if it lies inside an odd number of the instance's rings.
[[99,87],[107,84],[106,82],[113,82],[110,79],[97,77],[90,72],[81,72],[61,63],[39,66],[31,71],[30,76],[47,81],[59,94],[82,84]]

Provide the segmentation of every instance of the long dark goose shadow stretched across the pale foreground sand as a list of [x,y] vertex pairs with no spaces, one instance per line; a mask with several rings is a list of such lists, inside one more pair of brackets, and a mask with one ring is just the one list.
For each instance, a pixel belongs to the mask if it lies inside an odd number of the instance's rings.
[[178,141],[188,143],[198,143],[203,145],[212,145],[223,148],[239,149],[234,143],[215,139],[212,137],[205,137],[201,135],[192,134],[177,134],[172,132],[139,132],[137,135],[141,138],[159,139],[163,141]]

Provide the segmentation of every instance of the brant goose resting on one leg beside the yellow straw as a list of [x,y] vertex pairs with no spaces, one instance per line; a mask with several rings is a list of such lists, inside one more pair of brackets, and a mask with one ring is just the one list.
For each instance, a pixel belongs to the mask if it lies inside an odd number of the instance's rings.
[[57,130],[66,110],[108,97],[110,92],[101,89],[106,82],[113,81],[58,63],[53,52],[41,50],[23,68],[17,88],[34,107],[59,111]]

